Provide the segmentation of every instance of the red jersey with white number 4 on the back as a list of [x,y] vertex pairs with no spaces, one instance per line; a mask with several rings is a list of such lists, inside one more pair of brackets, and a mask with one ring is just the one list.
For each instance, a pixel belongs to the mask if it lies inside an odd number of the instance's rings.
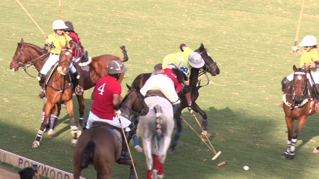
[[93,91],[95,94],[91,111],[99,118],[113,120],[115,117],[113,95],[121,95],[121,84],[116,81],[116,78],[107,76],[96,82]]

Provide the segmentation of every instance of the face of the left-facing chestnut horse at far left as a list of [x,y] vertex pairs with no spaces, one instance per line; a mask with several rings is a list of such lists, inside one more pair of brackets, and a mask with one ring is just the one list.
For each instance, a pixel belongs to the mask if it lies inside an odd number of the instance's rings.
[[21,43],[18,43],[16,52],[14,53],[14,56],[12,57],[12,61],[10,63],[10,69],[14,69],[14,71],[18,71],[19,68],[22,67],[22,65],[26,64],[29,60],[26,58],[26,55],[23,53],[24,48],[24,40],[21,39]]

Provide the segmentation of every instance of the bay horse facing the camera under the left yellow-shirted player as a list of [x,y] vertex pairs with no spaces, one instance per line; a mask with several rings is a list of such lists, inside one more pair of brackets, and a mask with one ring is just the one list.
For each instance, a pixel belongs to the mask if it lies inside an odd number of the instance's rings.
[[[57,116],[60,115],[61,111],[61,104],[65,104],[67,107],[67,110],[70,114],[70,124],[71,124],[71,134],[73,136],[73,139],[71,141],[72,144],[77,143],[77,133],[78,133],[78,127],[76,125],[75,116],[73,112],[73,100],[72,95],[75,91],[75,85],[72,84],[72,80],[70,78],[71,75],[69,75],[69,66],[71,63],[71,57],[72,57],[72,51],[74,50],[74,45],[69,49],[65,48],[62,49],[61,55],[59,58],[59,61],[57,65],[55,65],[53,68],[53,73],[51,74],[51,77],[47,79],[47,104],[45,107],[45,114],[44,114],[44,120],[41,124],[41,127],[39,129],[39,132],[36,136],[35,141],[32,144],[32,147],[40,147],[40,141],[42,139],[42,133],[44,132],[45,127],[47,126],[47,120],[48,116],[51,113],[51,110],[55,107],[57,104]],[[68,59],[64,59],[63,56],[69,56]],[[75,65],[75,63],[73,63]],[[83,76],[82,69],[80,66],[76,65],[75,68],[78,70],[80,76]],[[79,85],[83,86],[84,80],[81,78]],[[83,100],[83,94],[78,95],[80,99]],[[79,103],[79,108],[84,109],[84,102]]]

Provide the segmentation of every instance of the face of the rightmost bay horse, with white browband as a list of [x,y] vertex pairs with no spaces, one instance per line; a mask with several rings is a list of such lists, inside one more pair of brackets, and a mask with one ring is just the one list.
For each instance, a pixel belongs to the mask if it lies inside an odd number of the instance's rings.
[[307,74],[302,68],[296,68],[293,66],[293,99],[296,102],[302,102],[306,97],[306,84],[307,84]]

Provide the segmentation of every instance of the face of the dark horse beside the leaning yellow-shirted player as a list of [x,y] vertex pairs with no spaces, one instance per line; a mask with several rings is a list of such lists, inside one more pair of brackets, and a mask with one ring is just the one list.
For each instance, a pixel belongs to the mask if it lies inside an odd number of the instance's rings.
[[211,58],[211,56],[207,53],[206,49],[204,48],[203,43],[200,45],[200,47],[196,50],[196,52],[198,52],[203,60],[205,61],[205,65],[203,68],[203,70],[205,72],[210,73],[212,76],[216,76],[219,75],[219,68],[216,64],[216,62],[213,61],[213,59]]

